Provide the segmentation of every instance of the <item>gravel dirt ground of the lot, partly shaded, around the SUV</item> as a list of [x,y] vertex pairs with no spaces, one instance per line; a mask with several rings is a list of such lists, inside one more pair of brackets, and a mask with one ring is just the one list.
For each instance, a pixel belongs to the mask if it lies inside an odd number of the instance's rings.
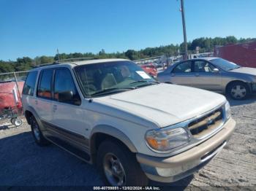
[[[235,133],[223,151],[208,165],[173,184],[187,190],[213,187],[253,190],[256,186],[256,96],[246,101],[230,101]],[[84,186],[103,185],[93,165],[88,165],[56,146],[37,147],[29,125],[15,128],[0,123],[0,185]]]

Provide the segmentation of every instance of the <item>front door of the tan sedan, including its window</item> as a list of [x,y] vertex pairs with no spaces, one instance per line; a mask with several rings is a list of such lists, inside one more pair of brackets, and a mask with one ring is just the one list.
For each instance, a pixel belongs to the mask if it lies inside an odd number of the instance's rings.
[[193,87],[217,92],[222,90],[222,74],[220,71],[214,71],[215,67],[211,63],[195,60],[193,67],[191,80]]

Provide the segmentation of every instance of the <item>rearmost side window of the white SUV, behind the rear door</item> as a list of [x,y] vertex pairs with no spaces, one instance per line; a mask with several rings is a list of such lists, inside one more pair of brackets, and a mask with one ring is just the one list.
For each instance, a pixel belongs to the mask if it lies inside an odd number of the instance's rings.
[[36,85],[37,80],[37,71],[31,71],[26,77],[26,82],[23,87],[23,94],[24,95],[34,95],[34,87]]

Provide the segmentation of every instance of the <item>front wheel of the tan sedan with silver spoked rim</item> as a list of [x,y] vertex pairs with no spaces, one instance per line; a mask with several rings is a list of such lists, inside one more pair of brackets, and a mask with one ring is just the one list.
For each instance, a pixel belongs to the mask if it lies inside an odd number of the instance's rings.
[[227,95],[234,100],[244,100],[249,95],[249,87],[244,82],[233,82],[227,86]]

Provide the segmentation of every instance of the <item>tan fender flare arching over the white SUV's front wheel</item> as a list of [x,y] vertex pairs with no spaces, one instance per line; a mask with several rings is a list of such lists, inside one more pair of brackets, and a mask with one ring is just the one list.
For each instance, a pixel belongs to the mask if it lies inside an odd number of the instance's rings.
[[94,147],[94,136],[97,133],[104,133],[108,136],[113,136],[114,138],[118,139],[123,144],[125,144],[131,152],[138,152],[134,144],[132,144],[132,141],[128,138],[128,136],[126,136],[121,130],[118,130],[117,128],[114,128],[110,125],[97,125],[91,130],[90,147]]

